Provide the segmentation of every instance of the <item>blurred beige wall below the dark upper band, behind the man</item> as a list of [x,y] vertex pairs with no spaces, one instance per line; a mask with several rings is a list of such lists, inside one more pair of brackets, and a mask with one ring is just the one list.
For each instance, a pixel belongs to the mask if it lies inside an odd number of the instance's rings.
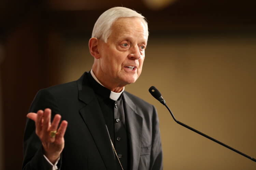
[[[62,83],[91,68],[87,39],[62,44]],[[158,110],[165,170],[254,170],[255,162],[176,124],[148,92],[156,86],[177,120],[256,157],[256,37],[150,37],[141,77],[126,90]]]

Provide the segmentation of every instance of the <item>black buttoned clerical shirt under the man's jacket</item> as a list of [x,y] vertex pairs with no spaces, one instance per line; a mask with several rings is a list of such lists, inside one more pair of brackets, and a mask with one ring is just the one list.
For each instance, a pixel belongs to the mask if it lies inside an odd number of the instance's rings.
[[[111,90],[99,84],[97,82],[98,80],[95,77],[95,75],[92,75],[92,71],[88,74],[89,83],[93,87],[93,90],[96,94],[96,98],[98,99],[101,111],[103,113],[103,117],[105,119],[106,126],[108,128],[110,138],[117,152],[117,156],[124,170],[127,170],[129,152],[125,122],[126,114],[123,103],[123,93],[119,96],[117,100],[110,99]],[[118,164],[117,169],[119,169],[120,165],[117,158],[116,163]]]

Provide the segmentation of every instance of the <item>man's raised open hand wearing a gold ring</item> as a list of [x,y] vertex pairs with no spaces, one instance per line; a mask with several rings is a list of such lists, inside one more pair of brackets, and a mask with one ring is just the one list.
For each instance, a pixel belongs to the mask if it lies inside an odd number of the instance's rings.
[[44,111],[39,110],[37,114],[28,113],[27,117],[35,121],[35,133],[42,142],[44,155],[54,164],[64,148],[68,122],[63,120],[57,130],[61,116],[56,114],[51,123],[51,112],[51,109],[46,108]]

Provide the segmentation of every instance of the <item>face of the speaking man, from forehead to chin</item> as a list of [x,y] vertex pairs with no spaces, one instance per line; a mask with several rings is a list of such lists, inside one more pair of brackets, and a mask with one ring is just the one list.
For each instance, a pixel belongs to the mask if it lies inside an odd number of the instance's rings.
[[99,41],[99,65],[105,79],[125,86],[141,74],[148,32],[135,17],[119,18],[112,26],[107,43]]

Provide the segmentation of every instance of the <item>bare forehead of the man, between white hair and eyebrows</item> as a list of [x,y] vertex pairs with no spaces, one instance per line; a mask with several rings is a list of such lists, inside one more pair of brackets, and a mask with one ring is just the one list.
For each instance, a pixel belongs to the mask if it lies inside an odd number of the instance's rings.
[[136,17],[118,18],[112,25],[110,38],[133,37],[147,41],[148,31],[145,22]]

